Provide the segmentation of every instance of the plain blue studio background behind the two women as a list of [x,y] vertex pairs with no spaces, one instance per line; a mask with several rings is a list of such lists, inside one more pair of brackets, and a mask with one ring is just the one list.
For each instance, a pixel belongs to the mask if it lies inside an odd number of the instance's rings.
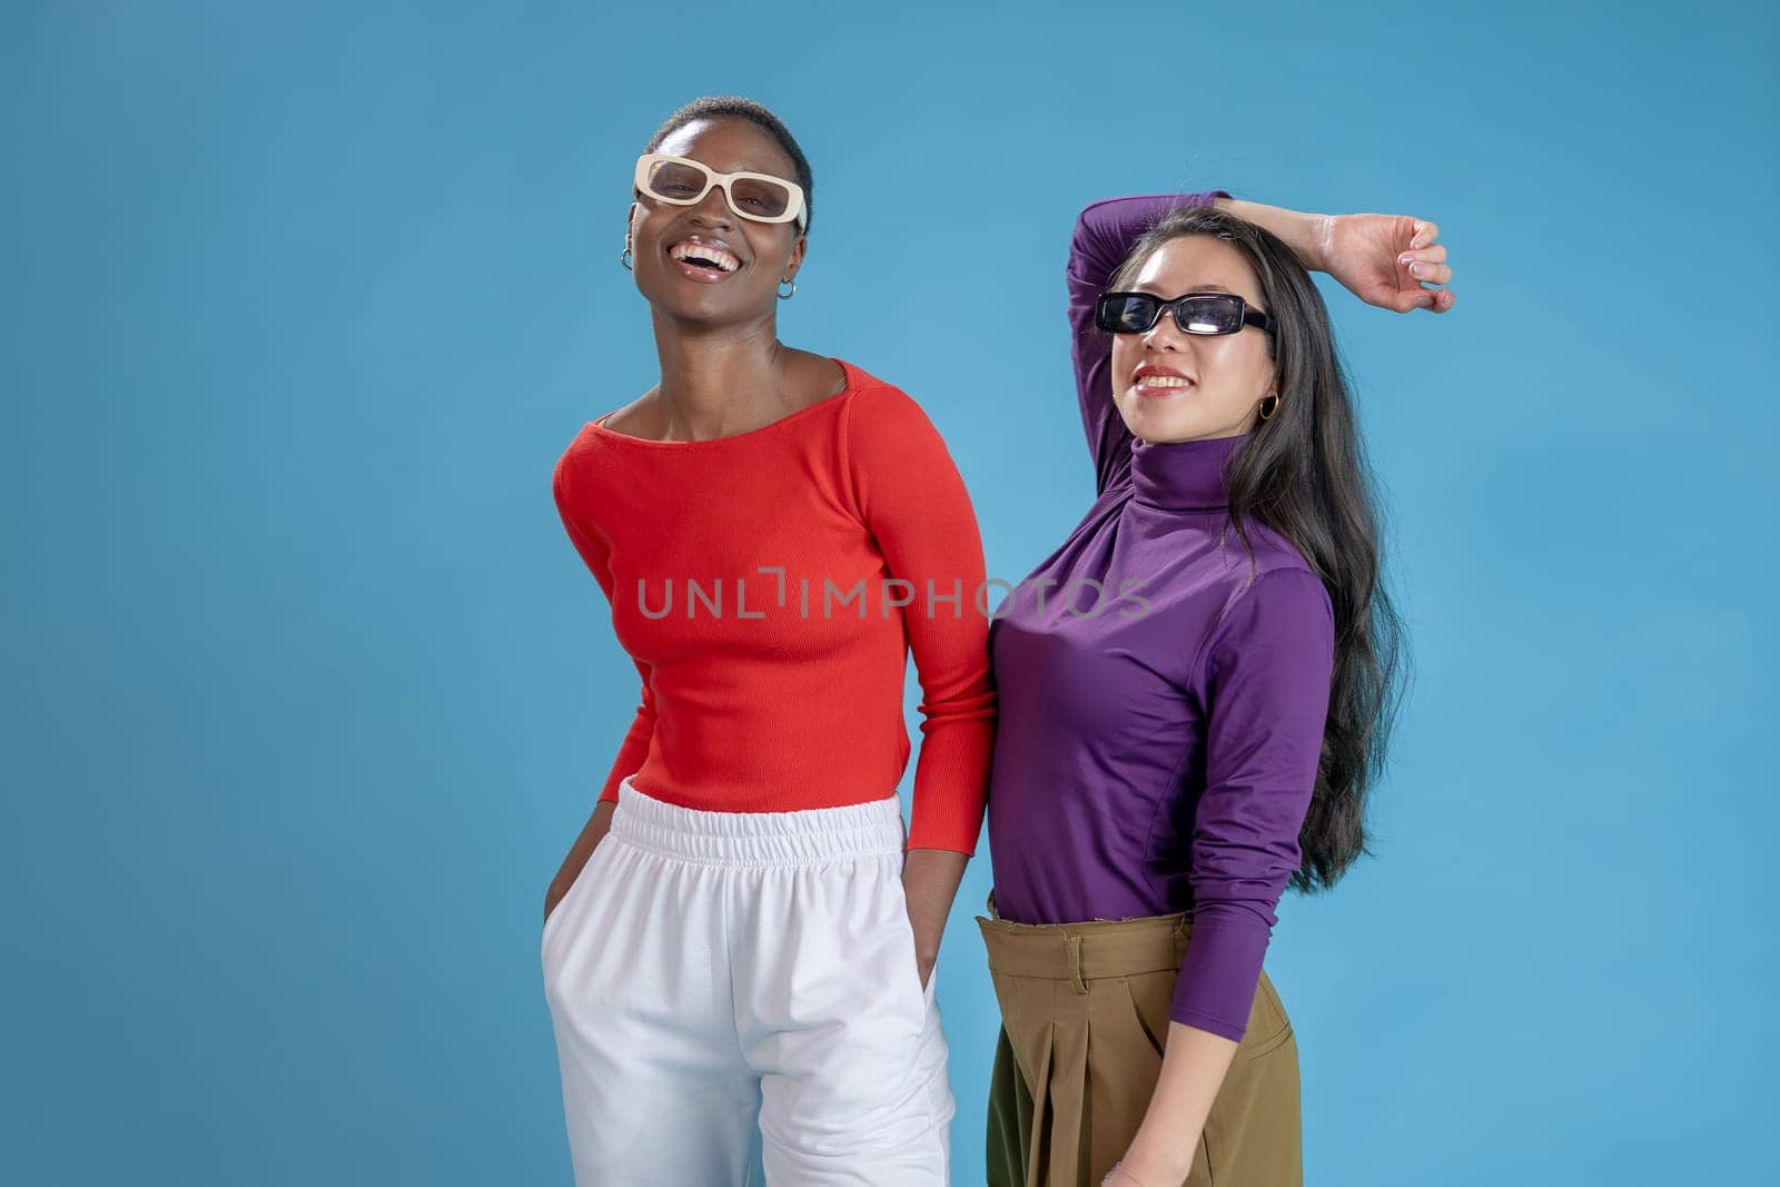
[[635,678],[548,479],[653,381],[630,166],[703,93],[815,166],[781,336],[926,404],[1007,580],[1089,500],[1084,201],[1440,222],[1454,313],[1324,285],[1417,682],[1269,956],[1308,1182],[1755,1176],[1776,14],[7,4],[0,1180],[568,1182],[538,916]]

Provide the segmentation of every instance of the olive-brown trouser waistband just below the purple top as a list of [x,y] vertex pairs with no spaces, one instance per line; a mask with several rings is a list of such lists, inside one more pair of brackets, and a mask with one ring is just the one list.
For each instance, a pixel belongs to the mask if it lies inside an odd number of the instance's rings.
[[993,892],[990,918],[979,915],[977,925],[993,972],[1077,986],[1095,977],[1177,970],[1193,934],[1193,918],[1184,911],[1089,924],[1009,924],[995,915]]

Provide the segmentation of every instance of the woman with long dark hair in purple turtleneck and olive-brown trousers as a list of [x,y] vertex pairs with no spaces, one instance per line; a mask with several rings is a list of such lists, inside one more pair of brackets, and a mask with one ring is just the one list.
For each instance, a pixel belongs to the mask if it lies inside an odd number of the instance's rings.
[[[995,1185],[1301,1182],[1262,956],[1282,892],[1365,852],[1401,630],[1323,299],[1212,198],[1075,228],[1100,495],[990,628]],[[1422,288],[1451,278],[1429,224],[1330,233],[1369,301],[1451,308]]]

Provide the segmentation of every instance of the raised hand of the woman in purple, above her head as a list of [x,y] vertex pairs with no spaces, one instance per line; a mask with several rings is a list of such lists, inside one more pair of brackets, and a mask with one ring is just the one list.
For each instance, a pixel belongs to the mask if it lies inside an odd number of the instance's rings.
[[1403,214],[1328,215],[1315,231],[1324,272],[1353,295],[1381,310],[1445,313],[1456,297],[1440,228]]

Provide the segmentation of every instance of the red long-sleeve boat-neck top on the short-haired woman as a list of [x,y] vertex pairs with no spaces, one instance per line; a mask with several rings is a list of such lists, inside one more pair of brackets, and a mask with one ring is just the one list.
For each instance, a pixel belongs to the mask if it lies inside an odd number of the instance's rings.
[[643,676],[600,799],[627,776],[708,812],[890,795],[913,655],[908,845],[968,854],[995,739],[983,539],[920,406],[840,365],[842,393],[753,432],[648,441],[602,416],[557,463],[562,523]]

